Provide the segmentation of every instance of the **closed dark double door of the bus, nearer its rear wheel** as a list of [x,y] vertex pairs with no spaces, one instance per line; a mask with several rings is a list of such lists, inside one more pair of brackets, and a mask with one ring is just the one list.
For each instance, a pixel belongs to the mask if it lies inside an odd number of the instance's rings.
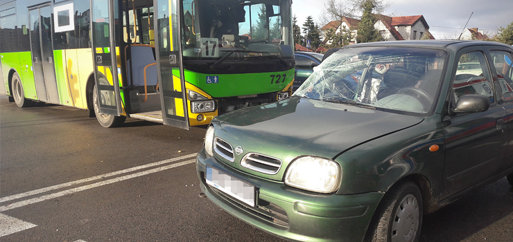
[[32,64],[37,98],[59,104],[55,64],[53,63],[50,5],[29,8]]

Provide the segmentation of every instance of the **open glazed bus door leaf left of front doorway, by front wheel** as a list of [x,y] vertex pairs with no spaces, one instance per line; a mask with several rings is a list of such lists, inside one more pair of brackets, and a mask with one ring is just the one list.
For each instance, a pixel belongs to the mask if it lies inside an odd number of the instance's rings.
[[119,116],[122,113],[118,78],[121,70],[116,62],[114,4],[112,0],[91,1],[92,51],[100,113]]

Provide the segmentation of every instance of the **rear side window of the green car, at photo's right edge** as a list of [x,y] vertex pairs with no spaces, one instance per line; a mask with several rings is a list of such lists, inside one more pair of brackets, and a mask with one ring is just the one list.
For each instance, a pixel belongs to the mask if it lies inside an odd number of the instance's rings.
[[[512,55],[506,51],[490,51],[490,56],[497,71],[498,82],[501,85],[503,98],[506,102],[513,101],[513,71]],[[509,93],[508,95],[504,95]]]

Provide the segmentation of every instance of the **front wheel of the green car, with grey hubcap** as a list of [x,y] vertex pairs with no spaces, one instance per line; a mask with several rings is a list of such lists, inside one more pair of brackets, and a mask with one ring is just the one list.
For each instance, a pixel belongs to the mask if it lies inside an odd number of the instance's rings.
[[422,216],[422,196],[419,187],[411,181],[394,185],[376,209],[365,241],[418,241]]

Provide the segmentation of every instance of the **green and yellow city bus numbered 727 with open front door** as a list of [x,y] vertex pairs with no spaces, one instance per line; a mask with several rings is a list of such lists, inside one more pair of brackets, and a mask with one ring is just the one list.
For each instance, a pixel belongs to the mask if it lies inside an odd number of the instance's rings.
[[173,127],[288,97],[291,0],[0,0],[0,93]]

